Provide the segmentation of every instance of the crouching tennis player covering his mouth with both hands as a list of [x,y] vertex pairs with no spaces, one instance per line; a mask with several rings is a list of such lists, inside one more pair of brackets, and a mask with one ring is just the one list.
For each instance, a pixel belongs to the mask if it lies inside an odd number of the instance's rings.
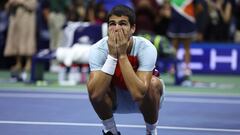
[[113,113],[141,113],[146,134],[157,135],[164,93],[163,81],[154,74],[157,51],[134,31],[134,11],[118,5],[108,15],[108,36],[90,49],[87,89],[104,135],[120,135]]

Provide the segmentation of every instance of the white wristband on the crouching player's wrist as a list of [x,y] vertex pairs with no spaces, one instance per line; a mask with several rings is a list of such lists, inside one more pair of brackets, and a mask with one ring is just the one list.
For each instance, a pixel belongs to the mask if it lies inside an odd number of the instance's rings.
[[108,55],[107,60],[105,61],[101,70],[107,74],[113,75],[115,72],[116,66],[117,66],[117,59],[112,57],[111,55]]

